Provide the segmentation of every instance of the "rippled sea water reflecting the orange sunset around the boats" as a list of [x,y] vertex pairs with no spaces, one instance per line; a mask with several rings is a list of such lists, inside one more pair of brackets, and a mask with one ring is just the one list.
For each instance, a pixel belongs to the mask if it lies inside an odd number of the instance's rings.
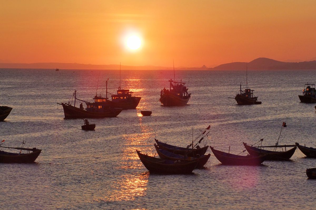
[[[121,87],[142,99],[116,118],[64,120],[57,102],[116,93],[119,71],[0,69],[0,105],[13,107],[0,122],[3,146],[37,147],[35,164],[0,163],[0,209],[314,209],[316,182],[306,168],[316,160],[296,150],[291,162],[223,166],[211,156],[189,175],[149,174],[136,149],[155,154],[154,138],[186,146],[210,125],[207,144],[238,154],[242,142],[315,147],[315,109],[300,103],[315,71],[248,71],[248,86],[262,105],[238,106],[234,97],[245,71],[176,71],[192,97],[184,107],[162,107],[160,90],[173,71],[121,71]],[[79,105],[79,104],[77,104]],[[153,111],[142,117],[141,110]],[[13,150],[11,150],[13,151]],[[210,149],[207,153],[211,153]]]

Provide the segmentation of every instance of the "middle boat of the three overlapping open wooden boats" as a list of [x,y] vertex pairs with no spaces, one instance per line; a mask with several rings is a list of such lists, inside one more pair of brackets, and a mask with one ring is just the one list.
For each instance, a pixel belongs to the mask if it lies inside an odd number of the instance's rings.
[[181,160],[182,161],[198,161],[197,162],[197,168],[204,168],[205,163],[209,160],[211,154],[208,155],[202,155],[200,157],[188,157],[188,156],[183,156],[183,155],[177,155],[172,152],[169,152],[167,150],[163,150],[159,148],[158,145],[154,144],[157,154],[159,155],[160,158],[165,159],[165,160]]

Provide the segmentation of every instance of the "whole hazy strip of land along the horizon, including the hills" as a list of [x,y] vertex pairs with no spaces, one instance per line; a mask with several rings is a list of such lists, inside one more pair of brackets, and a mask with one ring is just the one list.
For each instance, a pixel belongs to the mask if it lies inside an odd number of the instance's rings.
[[[176,70],[316,70],[316,60],[303,62],[282,62],[269,58],[257,58],[251,62],[232,62],[218,65],[213,68],[207,68],[205,65],[201,67],[178,67]],[[79,63],[0,63],[3,69],[119,69],[119,65],[94,65]],[[125,70],[172,70],[173,67],[165,66],[125,66],[121,69]]]

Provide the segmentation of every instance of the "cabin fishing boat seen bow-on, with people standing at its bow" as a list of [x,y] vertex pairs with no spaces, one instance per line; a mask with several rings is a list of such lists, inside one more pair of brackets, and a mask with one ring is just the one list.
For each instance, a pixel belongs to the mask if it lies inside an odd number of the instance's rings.
[[186,105],[191,98],[191,93],[188,94],[185,82],[175,82],[170,79],[170,88],[161,90],[159,101],[163,106],[183,106]]

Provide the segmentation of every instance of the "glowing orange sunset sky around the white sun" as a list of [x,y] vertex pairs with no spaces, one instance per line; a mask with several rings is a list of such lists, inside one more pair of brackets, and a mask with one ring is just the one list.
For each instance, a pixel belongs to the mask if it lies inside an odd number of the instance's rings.
[[[314,0],[2,1],[0,62],[195,67],[316,57]],[[140,35],[126,50],[122,37]]]

